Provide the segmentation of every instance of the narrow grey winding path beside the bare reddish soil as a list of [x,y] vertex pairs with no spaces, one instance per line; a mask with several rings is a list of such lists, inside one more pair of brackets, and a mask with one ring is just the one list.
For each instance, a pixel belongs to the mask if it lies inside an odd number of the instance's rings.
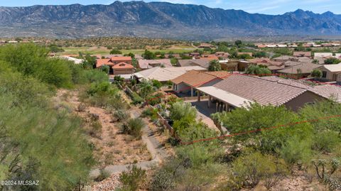
[[[131,110],[131,115],[136,117],[139,117],[141,113],[136,110]],[[145,126],[144,129],[142,129],[142,141],[146,143],[147,149],[149,153],[151,153],[152,160],[143,161],[140,163],[136,163],[135,165],[142,169],[148,169],[155,165],[159,165],[164,158],[167,158],[166,152],[163,150],[163,147],[161,146],[161,143],[155,138],[153,131],[149,129],[148,126]],[[104,170],[110,174],[112,173],[121,173],[125,170],[129,169],[128,165],[108,165],[104,168]],[[99,169],[94,169],[90,172],[90,178],[96,178],[100,174]]]

